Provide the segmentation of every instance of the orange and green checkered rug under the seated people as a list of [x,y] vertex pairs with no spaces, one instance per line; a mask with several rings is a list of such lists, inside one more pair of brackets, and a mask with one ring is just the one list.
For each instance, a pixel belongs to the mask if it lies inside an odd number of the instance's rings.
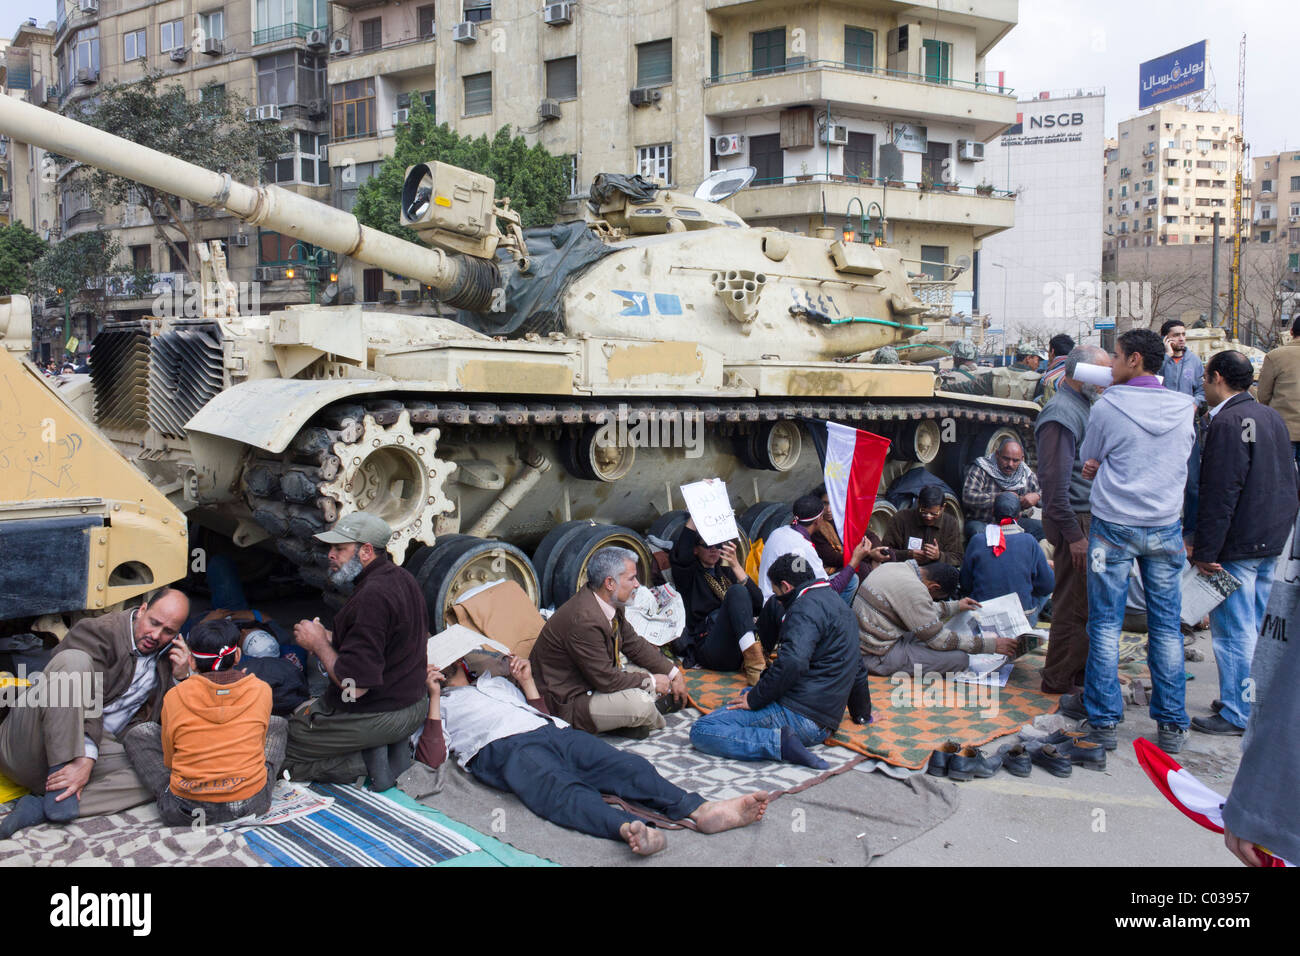
[[[949,678],[926,678],[919,684],[900,676],[871,678],[875,721],[859,727],[845,714],[840,730],[826,743],[894,766],[919,770],[945,740],[978,747],[1014,734],[1039,714],[1056,710],[1057,695],[1039,691],[1044,652],[1015,662],[1006,687],[959,684]],[[703,713],[724,706],[745,687],[740,674],[688,670],[690,698]]]

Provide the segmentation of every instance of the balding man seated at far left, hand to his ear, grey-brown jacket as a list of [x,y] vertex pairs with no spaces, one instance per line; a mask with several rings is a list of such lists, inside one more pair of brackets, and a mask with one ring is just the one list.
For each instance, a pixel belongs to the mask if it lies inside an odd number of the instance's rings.
[[0,821],[0,839],[153,800],[120,740],[157,721],[162,696],[190,676],[179,636],[188,615],[190,598],[165,588],[139,607],[73,626],[0,723],[0,773],[31,791]]

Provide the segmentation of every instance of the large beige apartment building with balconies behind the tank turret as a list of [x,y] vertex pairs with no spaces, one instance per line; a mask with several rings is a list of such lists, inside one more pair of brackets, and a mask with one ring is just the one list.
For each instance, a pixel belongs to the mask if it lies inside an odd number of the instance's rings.
[[[754,165],[755,183],[729,204],[755,225],[810,232],[824,200],[829,225],[841,228],[852,204],[858,228],[858,203],[874,202],[889,241],[935,278],[1014,221],[1010,198],[980,189],[980,159],[1015,121],[1014,95],[985,72],[1015,25],[1015,0],[959,12],[940,0],[333,7],[330,165],[342,208],[422,96],[462,134],[511,125],[573,156],[576,199],[601,172],[692,190],[712,169]],[[883,150],[896,168],[881,166]],[[358,298],[377,281],[372,271]],[[968,269],[958,286],[970,291]]]

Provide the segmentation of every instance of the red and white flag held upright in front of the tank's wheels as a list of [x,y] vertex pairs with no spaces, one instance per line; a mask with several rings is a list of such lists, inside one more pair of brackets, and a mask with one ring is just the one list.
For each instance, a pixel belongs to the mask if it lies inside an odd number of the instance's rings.
[[871,523],[889,440],[835,421],[803,419],[803,424],[822,459],[831,514],[848,562]]

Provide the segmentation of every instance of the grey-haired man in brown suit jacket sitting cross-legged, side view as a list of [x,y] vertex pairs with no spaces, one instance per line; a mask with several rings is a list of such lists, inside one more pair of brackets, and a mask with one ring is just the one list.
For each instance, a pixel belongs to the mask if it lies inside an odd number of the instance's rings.
[[649,736],[663,727],[663,713],[686,700],[681,671],[623,617],[637,587],[636,554],[602,548],[588,562],[586,587],[551,615],[533,645],[529,661],[546,708],[578,730]]

